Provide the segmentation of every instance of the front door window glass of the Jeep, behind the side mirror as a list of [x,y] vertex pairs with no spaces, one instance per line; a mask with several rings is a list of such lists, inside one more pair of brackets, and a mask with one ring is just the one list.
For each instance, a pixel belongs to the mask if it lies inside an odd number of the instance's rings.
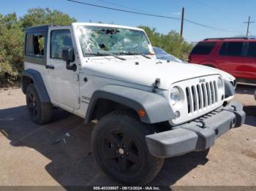
[[69,30],[51,31],[50,58],[61,59],[62,50],[72,47],[72,39]]

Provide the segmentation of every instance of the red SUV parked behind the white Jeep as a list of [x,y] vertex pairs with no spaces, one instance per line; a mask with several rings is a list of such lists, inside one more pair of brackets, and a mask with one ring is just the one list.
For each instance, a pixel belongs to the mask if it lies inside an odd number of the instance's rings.
[[189,63],[198,63],[227,71],[238,82],[256,84],[256,39],[204,39],[189,55]]

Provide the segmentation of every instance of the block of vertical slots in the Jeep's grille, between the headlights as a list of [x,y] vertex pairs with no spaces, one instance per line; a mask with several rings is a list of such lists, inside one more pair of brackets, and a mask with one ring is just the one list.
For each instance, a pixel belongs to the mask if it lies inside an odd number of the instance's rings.
[[218,102],[217,82],[203,82],[186,87],[187,112],[197,112]]

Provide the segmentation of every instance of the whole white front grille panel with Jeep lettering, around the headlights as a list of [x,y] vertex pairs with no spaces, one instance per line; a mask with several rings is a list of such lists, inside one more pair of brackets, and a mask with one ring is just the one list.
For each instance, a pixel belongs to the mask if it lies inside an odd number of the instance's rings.
[[224,92],[218,89],[218,74],[195,77],[173,83],[172,87],[183,90],[184,102],[173,106],[173,112],[178,111],[179,117],[170,120],[170,125],[178,125],[212,112],[222,106]]

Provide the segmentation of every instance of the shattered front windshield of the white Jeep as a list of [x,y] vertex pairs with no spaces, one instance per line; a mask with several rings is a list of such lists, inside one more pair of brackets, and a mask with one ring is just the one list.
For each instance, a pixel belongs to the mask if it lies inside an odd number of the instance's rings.
[[84,57],[99,53],[151,53],[151,45],[143,31],[102,26],[78,26],[77,29]]

